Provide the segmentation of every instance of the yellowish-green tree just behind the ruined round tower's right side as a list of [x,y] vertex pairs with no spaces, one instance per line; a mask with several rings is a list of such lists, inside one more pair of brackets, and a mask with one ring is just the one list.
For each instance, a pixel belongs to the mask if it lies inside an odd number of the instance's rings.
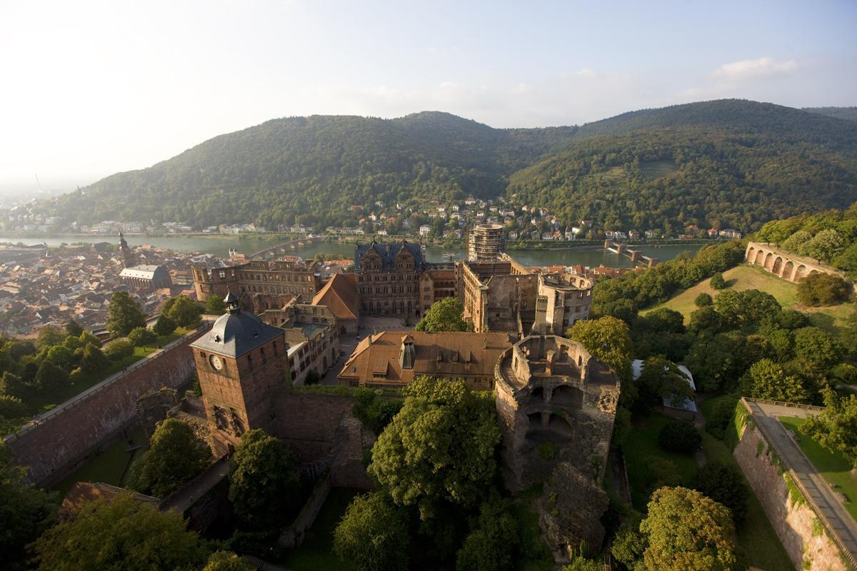
[[[596,359],[611,366],[622,381],[631,379],[631,336],[628,324],[614,317],[583,319],[566,331]],[[624,387],[623,387],[624,390]]]

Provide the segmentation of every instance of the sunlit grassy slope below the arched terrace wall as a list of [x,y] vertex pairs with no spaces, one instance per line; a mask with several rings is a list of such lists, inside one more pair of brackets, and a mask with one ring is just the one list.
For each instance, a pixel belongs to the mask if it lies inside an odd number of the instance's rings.
[[[767,292],[776,297],[781,306],[809,314],[813,325],[828,330],[830,333],[836,334],[837,329],[841,328],[844,324],[849,312],[853,310],[853,304],[848,303],[826,307],[801,306],[797,300],[797,285],[776,277],[756,265],[736,266],[731,270],[723,272],[723,277],[726,278],[728,288],[736,291],[759,289]],[[665,303],[645,309],[641,313],[651,312],[659,307],[668,307],[669,309],[681,312],[685,316],[685,321],[687,321],[690,318],[691,312],[697,309],[693,300],[701,293],[716,297],[718,292],[716,289],[711,288],[709,280],[705,279],[692,288],[687,288],[680,294],[675,294],[672,299]]]

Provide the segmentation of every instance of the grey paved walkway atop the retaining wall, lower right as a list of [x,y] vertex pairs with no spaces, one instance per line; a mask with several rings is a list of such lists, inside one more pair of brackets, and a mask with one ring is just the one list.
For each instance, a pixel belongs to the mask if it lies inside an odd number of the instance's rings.
[[794,473],[800,481],[800,485],[809,495],[806,499],[812,502],[816,511],[823,514],[824,518],[836,532],[844,547],[851,556],[857,557],[857,522],[848,514],[836,493],[830,489],[827,481],[818,470],[812,466],[812,462],[806,458],[803,451],[786,428],[777,419],[779,416],[795,416],[806,418],[807,413],[818,413],[815,410],[807,410],[800,407],[786,407],[777,404],[769,404],[746,399],[752,417],[759,428],[768,439],[782,461]]

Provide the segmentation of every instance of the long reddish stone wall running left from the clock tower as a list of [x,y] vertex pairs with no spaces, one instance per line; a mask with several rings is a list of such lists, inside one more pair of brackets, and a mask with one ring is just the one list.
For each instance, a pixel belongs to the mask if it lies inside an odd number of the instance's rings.
[[15,462],[29,467],[27,477],[37,485],[52,485],[68,476],[87,455],[136,421],[138,398],[164,386],[175,389],[194,373],[189,343],[200,335],[201,331],[189,333],[6,437]]

